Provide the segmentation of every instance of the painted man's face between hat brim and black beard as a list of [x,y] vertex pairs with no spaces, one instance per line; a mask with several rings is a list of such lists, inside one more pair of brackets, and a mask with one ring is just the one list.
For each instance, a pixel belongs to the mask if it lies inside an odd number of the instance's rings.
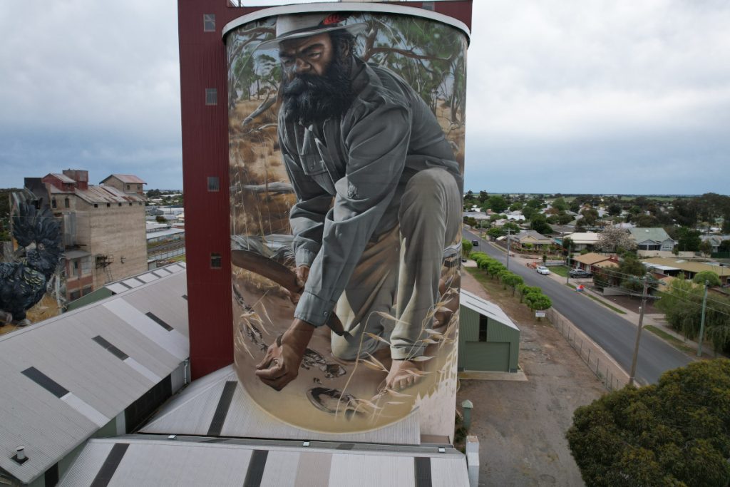
[[333,56],[332,41],[327,33],[282,42],[279,50],[289,80],[300,74],[323,76]]

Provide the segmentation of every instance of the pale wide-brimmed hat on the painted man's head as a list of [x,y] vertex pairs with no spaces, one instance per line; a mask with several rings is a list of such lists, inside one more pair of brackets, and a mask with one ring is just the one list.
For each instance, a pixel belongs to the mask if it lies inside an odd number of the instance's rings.
[[274,49],[289,39],[311,37],[331,31],[347,31],[353,36],[367,28],[366,23],[343,24],[347,15],[340,13],[316,13],[309,15],[280,15],[276,21],[276,37],[261,42],[256,49]]

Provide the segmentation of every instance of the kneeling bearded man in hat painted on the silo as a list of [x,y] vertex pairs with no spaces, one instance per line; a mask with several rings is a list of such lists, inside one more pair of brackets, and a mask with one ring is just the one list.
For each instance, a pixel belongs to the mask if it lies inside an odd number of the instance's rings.
[[337,358],[387,354],[385,386],[415,383],[445,290],[444,250],[459,239],[463,180],[437,118],[398,75],[358,58],[366,24],[344,21],[282,15],[259,46],[279,50],[278,137],[304,284],[293,322],[256,367],[276,390],[323,325]]

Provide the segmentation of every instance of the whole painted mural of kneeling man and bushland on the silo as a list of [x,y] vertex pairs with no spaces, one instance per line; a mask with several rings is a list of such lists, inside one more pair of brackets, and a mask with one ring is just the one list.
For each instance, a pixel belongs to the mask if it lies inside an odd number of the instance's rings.
[[235,362],[318,432],[456,390],[466,36],[317,12],[226,34]]

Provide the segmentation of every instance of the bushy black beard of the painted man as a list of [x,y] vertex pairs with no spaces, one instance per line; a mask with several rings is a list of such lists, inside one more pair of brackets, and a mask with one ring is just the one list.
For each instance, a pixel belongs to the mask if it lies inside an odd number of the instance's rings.
[[339,117],[354,98],[350,76],[339,58],[322,76],[299,74],[285,81],[282,93],[285,120],[304,125]]

